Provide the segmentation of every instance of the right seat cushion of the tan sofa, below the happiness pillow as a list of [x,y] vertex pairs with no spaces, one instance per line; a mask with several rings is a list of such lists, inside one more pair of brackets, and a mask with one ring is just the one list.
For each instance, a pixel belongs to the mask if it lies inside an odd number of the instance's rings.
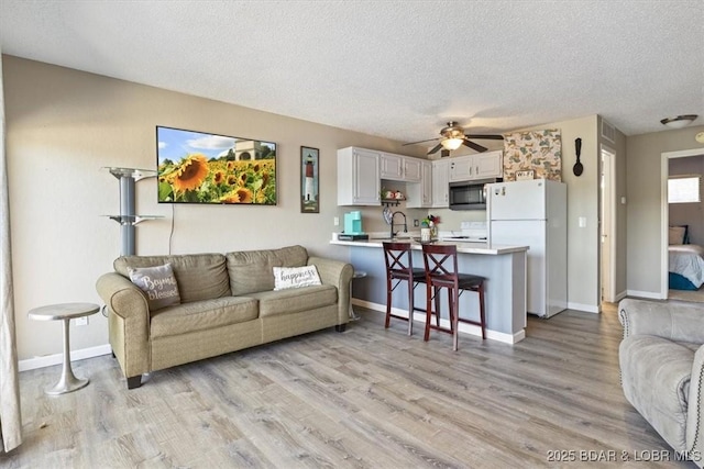
[[250,293],[260,302],[260,317],[298,313],[338,302],[338,289],[330,284],[302,287],[289,290]]

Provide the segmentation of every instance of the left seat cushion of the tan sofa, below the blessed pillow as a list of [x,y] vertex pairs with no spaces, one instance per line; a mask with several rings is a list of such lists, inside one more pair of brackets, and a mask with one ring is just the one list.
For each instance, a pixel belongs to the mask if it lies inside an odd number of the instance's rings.
[[253,298],[226,297],[168,306],[152,314],[152,338],[188,334],[252,321],[257,317]]

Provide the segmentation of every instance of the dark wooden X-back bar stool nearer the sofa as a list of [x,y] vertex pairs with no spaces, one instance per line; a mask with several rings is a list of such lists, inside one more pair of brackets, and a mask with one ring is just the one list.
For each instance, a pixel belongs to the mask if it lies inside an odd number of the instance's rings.
[[[413,335],[414,311],[426,311],[415,306],[414,290],[418,283],[426,281],[426,271],[414,268],[410,243],[384,243],[384,260],[386,263],[386,323],[384,327],[388,328],[392,317],[407,320],[408,335]],[[408,282],[408,317],[392,314],[392,293],[403,281]]]

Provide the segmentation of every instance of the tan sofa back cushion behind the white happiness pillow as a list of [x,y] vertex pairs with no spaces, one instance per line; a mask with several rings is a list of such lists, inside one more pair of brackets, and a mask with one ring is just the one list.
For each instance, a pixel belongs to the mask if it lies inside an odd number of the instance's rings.
[[228,253],[230,290],[233,295],[274,290],[274,267],[302,267],[308,252],[302,246]]

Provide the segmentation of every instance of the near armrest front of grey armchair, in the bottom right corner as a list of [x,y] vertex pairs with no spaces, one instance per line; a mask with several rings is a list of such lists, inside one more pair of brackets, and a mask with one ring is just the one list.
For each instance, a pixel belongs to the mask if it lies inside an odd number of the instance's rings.
[[704,466],[704,345],[694,354],[690,395],[686,410],[688,457],[698,467]]

